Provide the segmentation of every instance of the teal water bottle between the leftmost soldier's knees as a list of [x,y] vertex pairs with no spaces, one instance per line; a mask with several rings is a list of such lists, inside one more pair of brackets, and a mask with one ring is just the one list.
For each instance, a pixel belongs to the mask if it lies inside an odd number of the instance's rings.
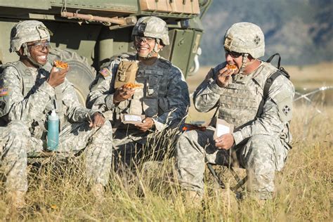
[[48,150],[55,151],[59,145],[59,117],[55,110],[48,115],[47,122],[47,146]]

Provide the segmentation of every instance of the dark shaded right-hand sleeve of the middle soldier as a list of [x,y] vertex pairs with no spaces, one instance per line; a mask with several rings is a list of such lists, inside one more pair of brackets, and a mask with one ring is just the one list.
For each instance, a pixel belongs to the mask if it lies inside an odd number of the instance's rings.
[[[172,73],[174,72],[174,73]],[[166,125],[176,125],[185,120],[185,116],[188,113],[188,107],[190,107],[190,96],[188,93],[188,84],[183,78],[181,70],[174,67],[171,71],[171,81],[168,84],[168,91],[165,98],[159,98],[159,108],[164,110],[162,115],[157,118],[153,118],[157,131],[164,129]]]

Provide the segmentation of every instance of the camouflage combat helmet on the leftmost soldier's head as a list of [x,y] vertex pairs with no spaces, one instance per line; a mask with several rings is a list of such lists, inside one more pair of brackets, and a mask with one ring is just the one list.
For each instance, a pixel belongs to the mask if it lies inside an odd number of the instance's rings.
[[27,42],[46,39],[50,41],[50,33],[42,22],[37,20],[18,22],[11,29],[11,48],[9,48],[9,51],[19,51],[21,46],[26,46]]

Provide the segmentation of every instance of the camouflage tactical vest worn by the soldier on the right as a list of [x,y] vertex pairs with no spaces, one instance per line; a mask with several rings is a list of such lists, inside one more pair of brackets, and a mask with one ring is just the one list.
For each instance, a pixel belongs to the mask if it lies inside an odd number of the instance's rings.
[[263,98],[263,84],[270,74],[275,72],[273,69],[267,71],[249,75],[235,74],[218,101],[218,118],[233,124],[235,130],[251,124],[256,119]]

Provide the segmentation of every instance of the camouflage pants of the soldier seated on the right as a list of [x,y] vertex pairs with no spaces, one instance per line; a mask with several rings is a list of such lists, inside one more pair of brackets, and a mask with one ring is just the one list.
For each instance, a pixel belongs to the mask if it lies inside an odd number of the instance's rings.
[[215,147],[213,135],[214,128],[209,127],[206,131],[187,131],[180,136],[176,145],[176,167],[181,186],[202,195],[205,164],[226,165],[230,162],[246,169],[248,192],[259,199],[270,199],[275,171],[282,170],[288,152],[280,138],[252,136],[232,149],[236,156],[233,159],[228,150]]

